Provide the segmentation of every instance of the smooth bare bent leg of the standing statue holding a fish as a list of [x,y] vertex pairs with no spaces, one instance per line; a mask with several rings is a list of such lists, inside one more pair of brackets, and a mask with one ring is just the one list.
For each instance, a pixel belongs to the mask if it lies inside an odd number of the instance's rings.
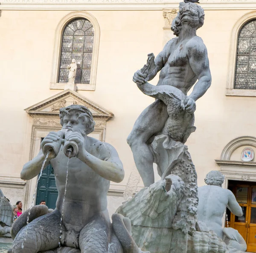
[[168,117],[166,105],[157,99],[140,114],[128,136],[127,142],[144,186],[154,183],[154,159],[147,142],[163,129]]

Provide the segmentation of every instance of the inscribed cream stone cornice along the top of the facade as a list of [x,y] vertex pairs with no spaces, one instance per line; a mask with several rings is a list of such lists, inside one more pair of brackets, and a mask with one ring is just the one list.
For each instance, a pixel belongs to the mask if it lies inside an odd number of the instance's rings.
[[[0,0],[1,10],[160,10],[180,0]],[[204,10],[255,10],[255,0],[201,0]],[[97,34],[97,33],[96,33]]]

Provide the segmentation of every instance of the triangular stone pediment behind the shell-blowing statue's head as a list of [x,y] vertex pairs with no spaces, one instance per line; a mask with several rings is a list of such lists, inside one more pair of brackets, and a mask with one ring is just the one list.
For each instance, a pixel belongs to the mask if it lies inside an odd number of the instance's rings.
[[86,106],[93,114],[94,120],[108,121],[113,117],[113,113],[73,90],[64,90],[55,96],[26,108],[25,111],[32,117],[58,118],[60,108],[73,104]]

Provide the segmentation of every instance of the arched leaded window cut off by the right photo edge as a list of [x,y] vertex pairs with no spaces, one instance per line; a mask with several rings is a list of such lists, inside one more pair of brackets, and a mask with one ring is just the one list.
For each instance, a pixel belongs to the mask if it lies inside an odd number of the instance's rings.
[[235,89],[256,89],[256,19],[239,32],[235,75]]

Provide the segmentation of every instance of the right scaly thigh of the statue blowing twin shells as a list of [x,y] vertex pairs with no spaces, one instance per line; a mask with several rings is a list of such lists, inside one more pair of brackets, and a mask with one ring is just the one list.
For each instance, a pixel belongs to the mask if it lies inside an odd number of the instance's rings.
[[107,253],[111,236],[111,224],[104,215],[96,214],[81,230],[81,253]]

